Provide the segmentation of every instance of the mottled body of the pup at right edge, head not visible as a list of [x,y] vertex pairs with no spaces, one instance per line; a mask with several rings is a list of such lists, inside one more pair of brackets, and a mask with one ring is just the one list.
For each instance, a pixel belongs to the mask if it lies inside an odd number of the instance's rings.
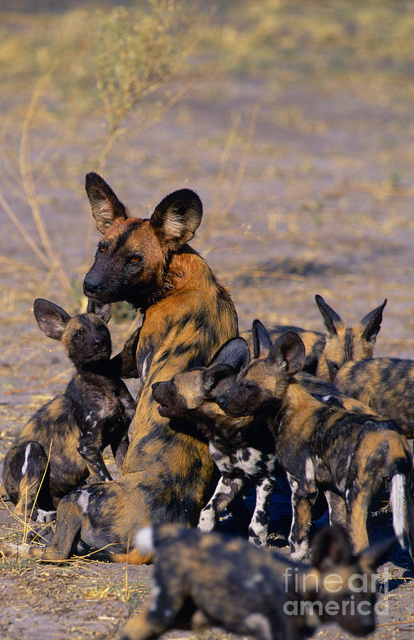
[[414,361],[371,358],[347,362],[335,385],[371,407],[384,420],[396,420],[405,437],[414,437]]

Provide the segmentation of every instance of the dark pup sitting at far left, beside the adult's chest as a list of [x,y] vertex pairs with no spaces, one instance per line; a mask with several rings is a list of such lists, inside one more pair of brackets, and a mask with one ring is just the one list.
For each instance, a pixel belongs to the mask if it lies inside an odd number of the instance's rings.
[[94,481],[110,480],[102,458],[108,444],[121,471],[135,412],[134,400],[109,359],[109,306],[99,316],[71,318],[57,304],[38,298],[33,311],[40,329],[62,342],[76,373],[62,393],[31,417],[4,459],[4,486],[21,518],[32,508],[33,518],[45,516],[42,512],[56,508],[89,474]]

